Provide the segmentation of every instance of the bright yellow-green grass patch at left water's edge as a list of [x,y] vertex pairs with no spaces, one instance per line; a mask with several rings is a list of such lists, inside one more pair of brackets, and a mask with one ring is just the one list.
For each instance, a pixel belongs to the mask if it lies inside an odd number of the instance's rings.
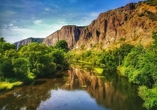
[[22,85],[23,83],[20,82],[20,81],[17,81],[17,82],[13,82],[13,83],[10,83],[10,82],[0,82],[0,90],[10,90],[12,89],[13,87],[15,86],[20,86]]

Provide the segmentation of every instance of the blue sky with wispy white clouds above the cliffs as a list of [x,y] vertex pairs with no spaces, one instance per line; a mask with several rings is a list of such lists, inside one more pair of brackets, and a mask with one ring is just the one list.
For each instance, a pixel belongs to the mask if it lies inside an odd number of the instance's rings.
[[102,12],[139,0],[0,0],[0,37],[46,38],[64,25],[87,26]]

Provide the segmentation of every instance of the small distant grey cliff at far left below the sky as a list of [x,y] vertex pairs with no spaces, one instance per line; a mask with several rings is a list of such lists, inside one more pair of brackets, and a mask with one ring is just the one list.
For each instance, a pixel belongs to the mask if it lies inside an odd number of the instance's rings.
[[30,37],[30,38],[15,42],[14,44],[16,46],[16,49],[18,49],[21,45],[28,45],[32,42],[42,43],[43,40],[44,40],[44,38],[32,38],[32,37]]

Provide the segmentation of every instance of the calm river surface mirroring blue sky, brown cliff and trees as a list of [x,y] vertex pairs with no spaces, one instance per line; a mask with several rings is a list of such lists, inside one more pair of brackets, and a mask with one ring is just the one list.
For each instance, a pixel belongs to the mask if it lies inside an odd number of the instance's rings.
[[123,77],[100,77],[83,69],[66,74],[1,92],[0,110],[145,110],[136,87]]

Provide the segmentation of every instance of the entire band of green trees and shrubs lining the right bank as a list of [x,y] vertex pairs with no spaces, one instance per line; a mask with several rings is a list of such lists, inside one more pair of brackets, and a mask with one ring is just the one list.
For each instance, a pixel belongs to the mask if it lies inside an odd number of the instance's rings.
[[147,109],[157,108],[157,32],[153,33],[154,42],[144,48],[141,44],[132,46],[122,44],[119,48],[101,52],[88,50],[68,53],[69,61],[82,65],[101,67],[108,74],[116,71],[128,78],[129,82],[139,85],[139,96],[145,101]]

